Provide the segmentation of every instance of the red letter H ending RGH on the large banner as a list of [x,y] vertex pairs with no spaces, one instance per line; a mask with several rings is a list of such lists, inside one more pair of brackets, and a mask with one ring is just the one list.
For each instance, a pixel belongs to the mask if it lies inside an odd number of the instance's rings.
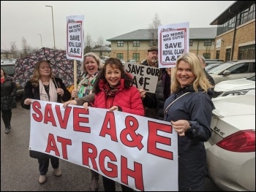
[[129,185],[128,176],[132,177],[135,179],[135,187],[138,188],[140,191],[144,191],[142,164],[134,162],[134,170],[129,169],[127,166],[127,158],[121,156],[121,182]]

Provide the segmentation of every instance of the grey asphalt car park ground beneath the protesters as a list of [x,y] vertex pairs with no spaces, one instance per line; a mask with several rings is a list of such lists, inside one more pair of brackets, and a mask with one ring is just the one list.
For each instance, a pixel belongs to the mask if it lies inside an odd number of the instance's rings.
[[[10,134],[4,133],[1,119],[1,191],[89,191],[90,170],[61,159],[61,177],[56,177],[49,166],[46,183],[38,183],[37,159],[29,157],[30,111],[20,107],[20,99],[17,102],[18,107],[12,110]],[[104,191],[102,177],[99,191]],[[118,183],[116,191],[121,191]],[[220,190],[207,179],[204,191]]]

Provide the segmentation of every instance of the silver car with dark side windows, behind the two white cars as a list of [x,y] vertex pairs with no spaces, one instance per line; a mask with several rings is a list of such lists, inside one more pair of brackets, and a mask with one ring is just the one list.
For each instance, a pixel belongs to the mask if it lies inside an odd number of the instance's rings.
[[215,84],[225,80],[236,80],[255,75],[255,59],[230,61],[211,69],[208,74],[213,77]]

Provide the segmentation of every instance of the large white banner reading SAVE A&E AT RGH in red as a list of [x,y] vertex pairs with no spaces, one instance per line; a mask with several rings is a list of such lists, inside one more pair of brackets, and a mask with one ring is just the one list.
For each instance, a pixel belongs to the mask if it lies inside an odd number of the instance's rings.
[[162,120],[33,100],[29,149],[136,191],[178,191],[177,133]]

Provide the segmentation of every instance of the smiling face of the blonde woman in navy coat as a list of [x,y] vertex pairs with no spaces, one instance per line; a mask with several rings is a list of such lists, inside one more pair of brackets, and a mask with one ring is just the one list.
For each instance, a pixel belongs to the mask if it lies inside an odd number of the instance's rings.
[[181,84],[181,88],[186,87],[187,85],[192,84],[195,80],[195,74],[192,73],[191,67],[186,61],[179,61],[176,78]]

